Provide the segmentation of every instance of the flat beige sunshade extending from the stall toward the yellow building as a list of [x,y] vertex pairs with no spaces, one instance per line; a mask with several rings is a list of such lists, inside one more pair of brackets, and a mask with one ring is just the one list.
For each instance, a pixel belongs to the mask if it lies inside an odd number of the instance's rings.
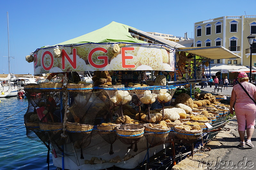
[[227,48],[222,46],[212,47],[180,47],[177,52],[184,51],[192,53],[201,57],[210,59],[228,59],[228,58],[241,58],[239,55],[229,51]]

